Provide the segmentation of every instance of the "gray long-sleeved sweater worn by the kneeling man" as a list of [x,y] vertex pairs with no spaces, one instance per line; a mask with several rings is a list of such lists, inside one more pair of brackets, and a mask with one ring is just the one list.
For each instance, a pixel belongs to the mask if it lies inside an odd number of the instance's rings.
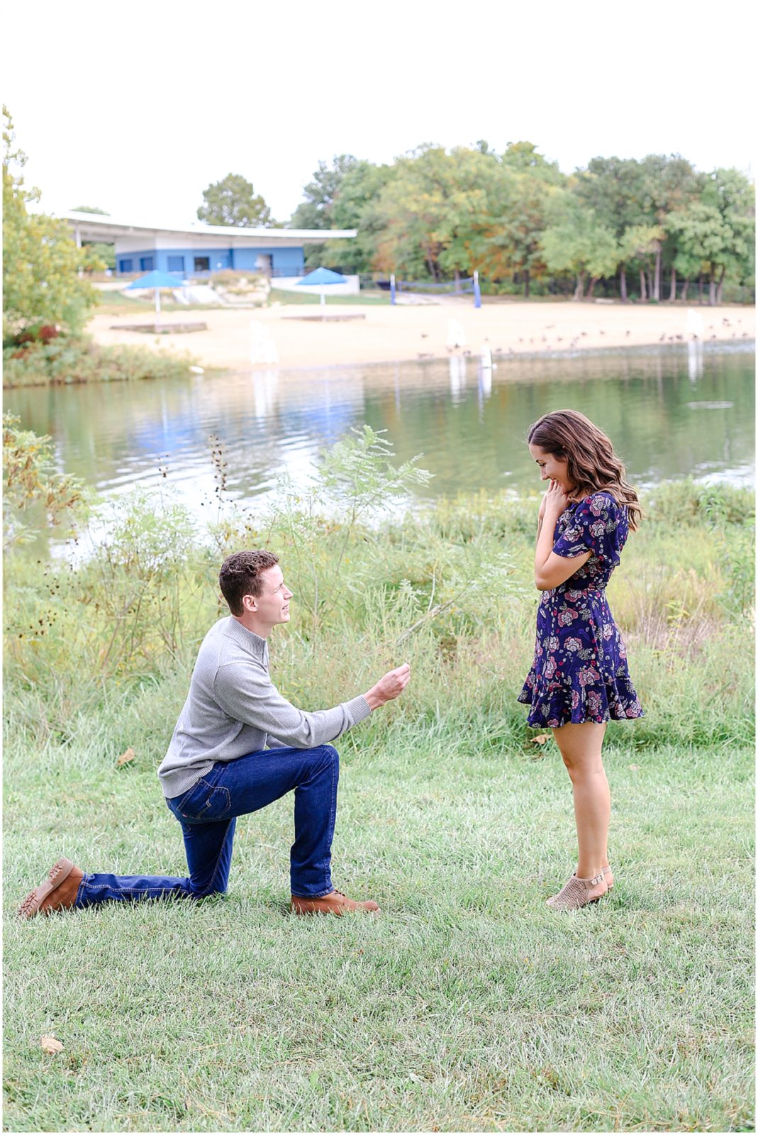
[[371,713],[361,695],[334,709],[303,713],[269,678],[266,639],[229,615],[203,639],[184,708],[160,776],[167,799],[187,792],[217,760],[281,748],[312,749],[334,741]]

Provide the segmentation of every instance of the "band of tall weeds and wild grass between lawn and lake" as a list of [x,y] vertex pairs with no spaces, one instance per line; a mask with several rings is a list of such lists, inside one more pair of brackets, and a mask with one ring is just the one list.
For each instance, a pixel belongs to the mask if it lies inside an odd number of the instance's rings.
[[[530,731],[515,698],[534,640],[537,498],[475,494],[381,520],[382,505],[423,480],[415,462],[396,470],[390,456],[367,428],[335,447],[305,490],[283,485],[275,506],[254,520],[227,502],[221,520],[200,529],[170,495],[136,493],[106,506],[109,535],[89,557],[9,557],[12,729],[40,743],[68,743],[104,714],[128,718],[126,732],[144,738],[151,759],[159,756],[197,645],[227,614],[220,558],[267,546],[280,554],[295,591],[296,617],[271,640],[287,697],[334,705],[409,662],[409,690],[371,718],[364,740],[399,729],[480,753],[527,751]],[[613,726],[609,739],[749,742],[752,495],[677,482],[643,504],[647,519],[608,596],[646,717]]]

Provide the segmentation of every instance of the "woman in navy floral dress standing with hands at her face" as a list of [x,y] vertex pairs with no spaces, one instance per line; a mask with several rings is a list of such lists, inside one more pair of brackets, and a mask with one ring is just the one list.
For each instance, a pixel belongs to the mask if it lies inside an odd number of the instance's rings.
[[607,722],[642,716],[605,597],[641,510],[610,440],[584,414],[545,414],[527,440],[549,487],[534,552],[534,582],[544,592],[534,662],[519,700],[531,706],[530,725],[553,730],[573,785],[579,864],[547,905],[575,910],[613,888],[601,756]]

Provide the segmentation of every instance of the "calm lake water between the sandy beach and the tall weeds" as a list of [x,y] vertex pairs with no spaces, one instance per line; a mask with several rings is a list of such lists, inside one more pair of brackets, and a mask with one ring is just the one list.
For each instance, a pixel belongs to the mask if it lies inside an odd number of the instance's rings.
[[53,437],[61,470],[103,495],[168,482],[191,505],[216,489],[219,442],[229,495],[251,501],[284,471],[304,476],[321,447],[364,422],[387,431],[398,460],[423,454],[428,496],[537,489],[527,429],[561,407],[610,435],[635,485],[744,485],[755,469],[755,344],[507,360],[494,371],[452,358],[33,388],[6,392],[5,405]]

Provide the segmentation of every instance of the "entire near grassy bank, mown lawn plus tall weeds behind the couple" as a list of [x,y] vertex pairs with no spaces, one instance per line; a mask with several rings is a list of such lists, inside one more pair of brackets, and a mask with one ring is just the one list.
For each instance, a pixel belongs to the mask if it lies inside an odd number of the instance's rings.
[[[124,503],[76,569],[9,556],[7,1128],[748,1129],[751,496],[683,482],[646,502],[609,591],[647,712],[609,729],[617,884],[556,918],[568,782],[515,704],[537,499],[377,528],[377,470],[338,452],[310,497],[222,506],[204,538],[166,498]],[[335,704],[413,667],[339,742],[335,878],[382,914],[285,917],[284,799],[239,822],[225,900],[16,923],[64,852],[184,872],[155,766],[224,613],[219,560],[255,545],[297,596],[271,641],[286,696]]]

